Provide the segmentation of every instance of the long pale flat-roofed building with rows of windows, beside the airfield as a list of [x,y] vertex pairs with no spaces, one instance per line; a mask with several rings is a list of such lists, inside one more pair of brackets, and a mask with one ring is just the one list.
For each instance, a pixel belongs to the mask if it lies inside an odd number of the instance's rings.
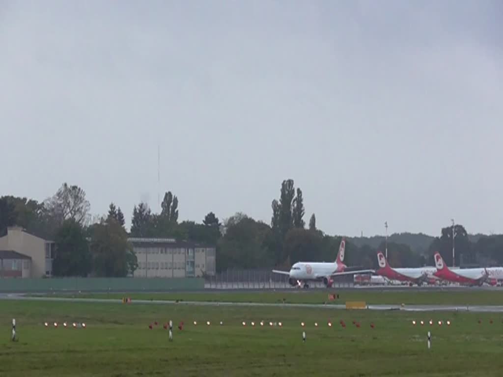
[[173,238],[129,238],[138,259],[133,277],[215,275],[215,246]]

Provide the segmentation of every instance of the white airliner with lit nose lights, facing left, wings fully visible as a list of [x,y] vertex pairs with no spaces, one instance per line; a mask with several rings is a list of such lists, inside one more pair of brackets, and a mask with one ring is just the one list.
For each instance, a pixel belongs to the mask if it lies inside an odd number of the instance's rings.
[[308,281],[323,281],[325,287],[329,288],[333,284],[332,277],[341,275],[351,275],[355,273],[373,273],[372,269],[346,271],[348,266],[343,263],[346,241],[341,241],[339,252],[334,262],[297,262],[294,263],[290,271],[279,271],[273,269],[275,273],[288,275],[288,282],[292,286],[309,288]]

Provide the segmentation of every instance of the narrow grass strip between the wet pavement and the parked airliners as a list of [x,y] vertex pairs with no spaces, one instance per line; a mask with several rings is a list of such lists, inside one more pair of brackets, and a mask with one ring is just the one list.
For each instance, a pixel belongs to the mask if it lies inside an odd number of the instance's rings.
[[[328,294],[339,294],[339,300],[329,301]],[[294,291],[294,292],[208,292],[208,293],[131,293],[131,294],[54,294],[51,297],[132,300],[185,300],[218,302],[261,302],[305,304],[344,304],[346,301],[365,301],[367,304],[422,304],[422,305],[503,305],[503,291]]]

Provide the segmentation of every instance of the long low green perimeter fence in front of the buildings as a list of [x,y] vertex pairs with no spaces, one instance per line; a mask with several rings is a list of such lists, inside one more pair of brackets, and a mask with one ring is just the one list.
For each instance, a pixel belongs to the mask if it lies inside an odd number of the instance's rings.
[[202,278],[59,277],[0,279],[0,292],[167,292],[203,290]]

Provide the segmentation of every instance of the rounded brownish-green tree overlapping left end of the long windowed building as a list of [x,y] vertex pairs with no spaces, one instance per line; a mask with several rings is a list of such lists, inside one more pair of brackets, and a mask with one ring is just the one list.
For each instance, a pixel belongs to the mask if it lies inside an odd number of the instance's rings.
[[138,268],[127,233],[115,219],[95,224],[91,239],[93,271],[97,276],[124,277]]

